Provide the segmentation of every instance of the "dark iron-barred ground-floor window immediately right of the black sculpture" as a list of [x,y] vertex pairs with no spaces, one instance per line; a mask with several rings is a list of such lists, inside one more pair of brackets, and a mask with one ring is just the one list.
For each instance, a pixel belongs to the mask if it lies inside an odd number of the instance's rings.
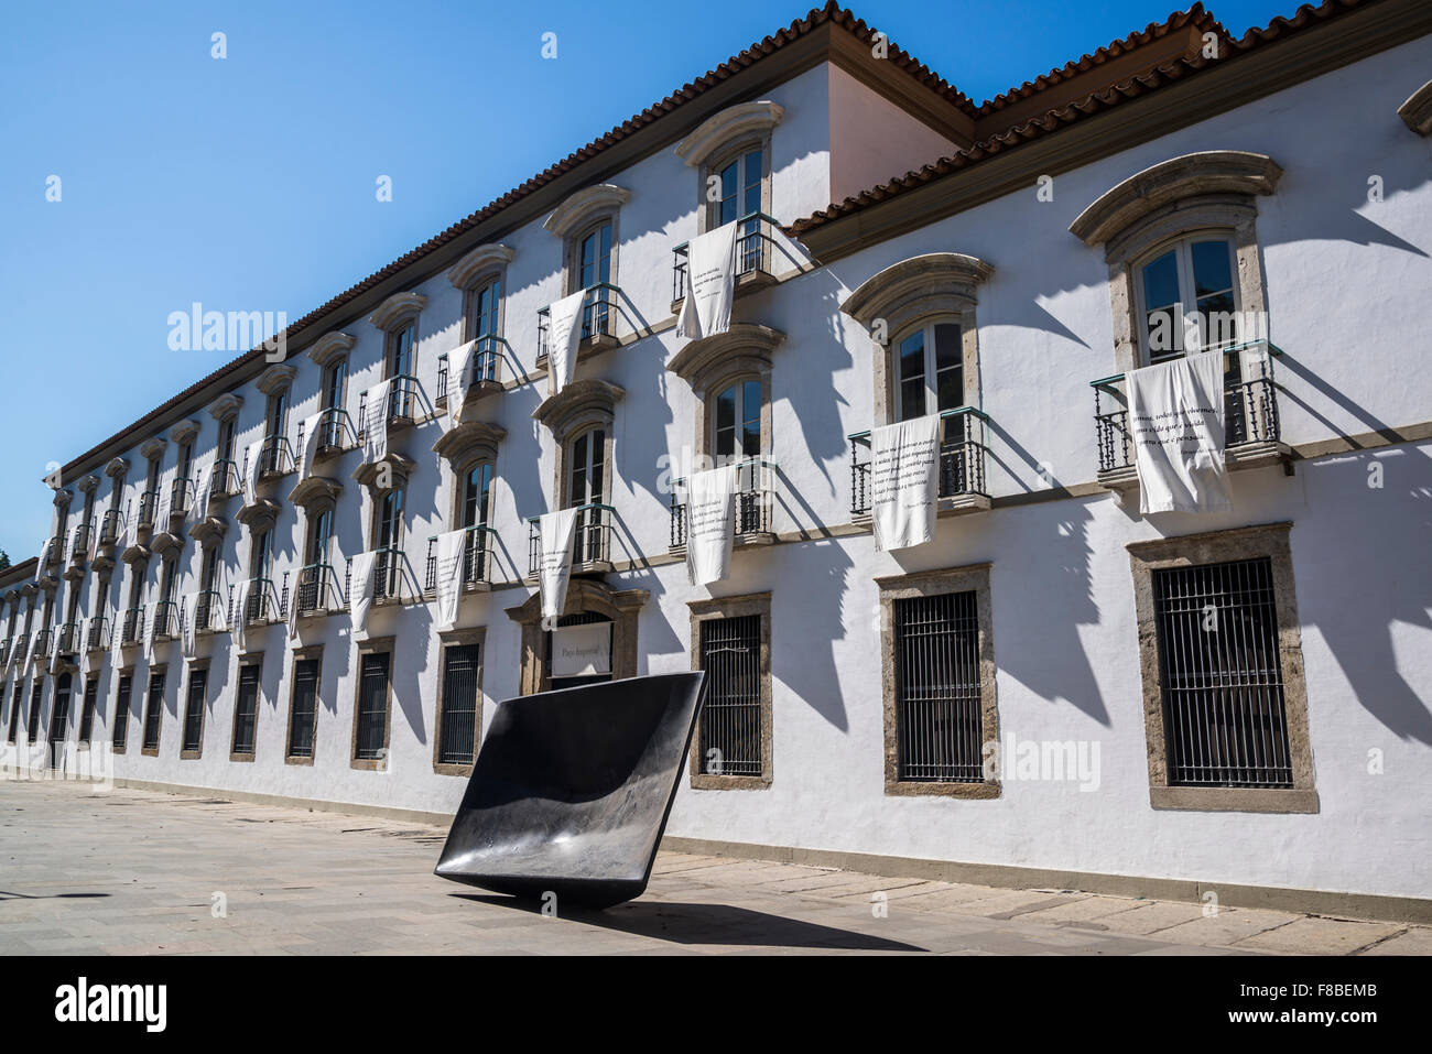
[[760,616],[703,620],[700,663],[706,672],[700,772],[710,776],[760,776],[765,768]]

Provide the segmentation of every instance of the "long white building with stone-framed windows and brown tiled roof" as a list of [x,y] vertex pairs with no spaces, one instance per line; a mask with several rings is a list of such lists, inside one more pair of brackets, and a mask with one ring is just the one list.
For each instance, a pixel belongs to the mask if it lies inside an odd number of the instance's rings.
[[[11,762],[451,813],[497,700],[697,666],[673,843],[1425,918],[1432,10],[1194,9],[984,106],[836,9],[765,43],[67,464],[0,573]],[[679,338],[732,221],[732,325]],[[1239,312],[1233,507],[1141,516],[1123,377],[1191,302]],[[932,412],[935,537],[881,551],[868,434]]]

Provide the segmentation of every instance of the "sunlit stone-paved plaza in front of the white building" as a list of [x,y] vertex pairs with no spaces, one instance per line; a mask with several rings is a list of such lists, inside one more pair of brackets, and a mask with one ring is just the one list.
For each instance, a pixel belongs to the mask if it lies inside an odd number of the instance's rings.
[[1432,952],[1432,929],[1395,922],[672,852],[639,901],[548,917],[435,878],[444,835],[221,793],[0,782],[0,952]]

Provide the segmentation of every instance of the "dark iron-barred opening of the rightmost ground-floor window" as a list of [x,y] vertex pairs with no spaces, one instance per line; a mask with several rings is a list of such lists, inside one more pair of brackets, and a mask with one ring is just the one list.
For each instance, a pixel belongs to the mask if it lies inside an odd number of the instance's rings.
[[1267,557],[1153,573],[1170,786],[1293,786]]

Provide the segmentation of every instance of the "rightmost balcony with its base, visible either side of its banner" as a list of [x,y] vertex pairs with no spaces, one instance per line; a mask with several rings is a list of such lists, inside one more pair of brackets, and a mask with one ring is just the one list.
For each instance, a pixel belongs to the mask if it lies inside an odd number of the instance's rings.
[[[1256,355],[1244,379],[1244,352]],[[1229,468],[1262,468],[1283,464],[1290,468],[1289,447],[1282,443],[1277,420],[1277,385],[1273,359],[1283,351],[1267,341],[1234,345],[1223,352],[1223,422],[1224,460]],[[1259,362],[1260,359],[1260,362]],[[1091,381],[1094,390],[1094,441],[1098,447],[1098,481],[1124,491],[1138,485],[1134,468],[1133,438],[1128,431],[1128,397],[1124,375]]]

